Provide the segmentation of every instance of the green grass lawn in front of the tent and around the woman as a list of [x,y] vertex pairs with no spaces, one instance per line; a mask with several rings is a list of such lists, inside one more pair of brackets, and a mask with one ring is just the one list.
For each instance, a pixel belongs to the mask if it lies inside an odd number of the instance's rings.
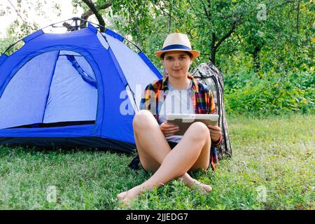
[[[143,193],[132,209],[315,209],[314,116],[230,116],[232,158],[193,177]],[[116,194],[150,177],[127,167],[132,155],[0,146],[0,209],[126,209]],[[56,190],[56,201],[51,188]]]

